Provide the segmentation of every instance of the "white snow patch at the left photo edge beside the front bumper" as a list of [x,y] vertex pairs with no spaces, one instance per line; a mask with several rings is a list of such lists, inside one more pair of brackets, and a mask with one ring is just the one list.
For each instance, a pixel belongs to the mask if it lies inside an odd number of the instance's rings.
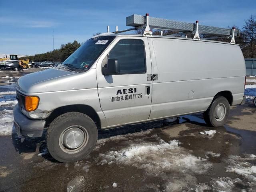
[[12,134],[13,128],[13,111],[0,111],[0,136],[7,136]]

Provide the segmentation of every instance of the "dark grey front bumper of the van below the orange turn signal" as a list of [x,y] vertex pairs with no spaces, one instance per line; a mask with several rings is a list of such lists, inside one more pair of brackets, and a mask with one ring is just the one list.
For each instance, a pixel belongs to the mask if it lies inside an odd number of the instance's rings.
[[17,134],[25,137],[41,137],[44,131],[45,120],[34,120],[27,118],[17,104],[13,110],[14,126]]

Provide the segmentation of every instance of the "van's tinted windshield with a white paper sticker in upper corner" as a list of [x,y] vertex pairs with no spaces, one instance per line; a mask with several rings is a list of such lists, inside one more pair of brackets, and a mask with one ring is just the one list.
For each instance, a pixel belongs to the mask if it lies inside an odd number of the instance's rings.
[[87,40],[57,68],[64,67],[77,72],[89,70],[114,38],[115,36],[99,36]]

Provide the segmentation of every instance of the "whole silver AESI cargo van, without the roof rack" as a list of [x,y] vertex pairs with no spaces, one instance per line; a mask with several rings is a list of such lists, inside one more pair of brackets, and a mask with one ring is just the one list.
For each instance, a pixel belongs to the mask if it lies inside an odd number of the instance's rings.
[[60,162],[96,145],[98,129],[204,113],[223,126],[243,104],[245,62],[239,45],[190,38],[110,34],[86,41],[60,66],[18,80],[14,124],[41,137]]

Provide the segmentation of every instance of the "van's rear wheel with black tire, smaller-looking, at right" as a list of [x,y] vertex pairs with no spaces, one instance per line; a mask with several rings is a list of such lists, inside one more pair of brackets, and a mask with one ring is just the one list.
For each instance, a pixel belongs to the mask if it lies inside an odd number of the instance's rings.
[[[218,113],[216,111],[219,111],[218,109],[224,110],[224,114],[222,116],[222,113]],[[223,96],[216,96],[214,97],[214,100],[212,101],[209,108],[204,112],[204,121],[208,126],[212,127],[220,127],[223,126],[229,115],[229,108],[230,104],[228,103],[228,100]],[[221,116],[221,117],[220,117]]]

